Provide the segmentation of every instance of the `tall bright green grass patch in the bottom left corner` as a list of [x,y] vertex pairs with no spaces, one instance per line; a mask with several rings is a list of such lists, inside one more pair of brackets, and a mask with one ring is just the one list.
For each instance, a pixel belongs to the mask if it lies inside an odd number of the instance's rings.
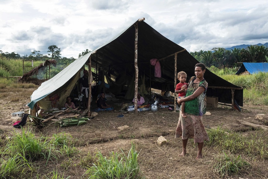
[[[0,178],[28,178],[27,172],[33,172],[31,162],[58,159],[58,156],[70,157],[78,151],[72,145],[72,136],[63,133],[54,134],[50,141],[48,137],[35,137],[35,132],[22,128],[22,132],[13,132],[13,137],[7,139],[4,149],[0,153]],[[67,163],[66,163],[67,164]],[[70,166],[70,163],[67,168]],[[47,178],[62,179],[57,171],[53,171]],[[67,177],[69,178],[69,177]]]

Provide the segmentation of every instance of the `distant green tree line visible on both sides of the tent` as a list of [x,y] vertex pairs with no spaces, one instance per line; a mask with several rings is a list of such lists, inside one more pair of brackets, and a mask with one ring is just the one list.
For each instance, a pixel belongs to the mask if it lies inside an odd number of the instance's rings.
[[[58,63],[65,63],[67,64],[72,63],[75,59],[73,57],[66,58],[61,57],[61,49],[58,48],[56,45],[50,45],[48,47],[48,51],[51,54],[43,55],[40,54],[40,51],[34,50],[28,56],[21,57],[16,52],[3,53],[0,50],[0,54],[6,58],[26,58],[26,59],[35,59],[35,60],[45,60],[45,59],[55,59]],[[83,55],[89,53],[90,50],[86,49],[82,53],[78,55],[78,58],[82,57]],[[215,67],[219,68],[229,68],[229,67],[236,67],[238,62],[268,62],[268,48],[266,46],[259,46],[259,45],[250,45],[247,48],[237,49],[234,48],[232,50],[226,50],[224,48],[213,48],[208,51],[195,51],[190,52],[190,54],[199,62],[206,64],[207,67],[214,65]]]

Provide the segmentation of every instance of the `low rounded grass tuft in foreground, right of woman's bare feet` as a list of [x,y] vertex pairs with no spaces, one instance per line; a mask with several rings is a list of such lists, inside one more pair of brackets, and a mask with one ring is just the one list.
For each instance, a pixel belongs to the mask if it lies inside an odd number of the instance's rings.
[[250,164],[243,160],[241,155],[236,156],[233,154],[220,153],[219,158],[215,160],[216,163],[213,166],[213,171],[219,173],[221,177],[237,174],[250,167]]

